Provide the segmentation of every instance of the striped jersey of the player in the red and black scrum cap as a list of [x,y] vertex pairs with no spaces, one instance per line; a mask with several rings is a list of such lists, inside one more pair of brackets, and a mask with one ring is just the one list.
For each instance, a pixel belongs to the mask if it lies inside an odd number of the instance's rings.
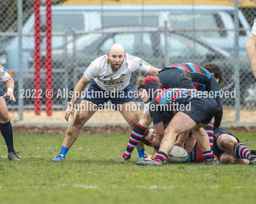
[[208,94],[203,91],[196,91],[194,89],[165,89],[164,91],[155,92],[154,98],[149,105],[149,114],[154,125],[161,123],[164,114],[177,113],[185,109],[186,105],[193,98],[200,96],[200,98],[207,98]]

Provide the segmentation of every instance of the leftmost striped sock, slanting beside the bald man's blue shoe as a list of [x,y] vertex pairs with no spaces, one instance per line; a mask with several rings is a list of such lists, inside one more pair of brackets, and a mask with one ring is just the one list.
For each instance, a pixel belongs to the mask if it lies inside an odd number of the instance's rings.
[[[131,157],[132,150],[142,139],[144,132],[147,128],[142,127],[138,122],[132,130],[130,140],[128,142],[127,148],[124,152],[124,157]],[[144,152],[143,152],[144,153]]]

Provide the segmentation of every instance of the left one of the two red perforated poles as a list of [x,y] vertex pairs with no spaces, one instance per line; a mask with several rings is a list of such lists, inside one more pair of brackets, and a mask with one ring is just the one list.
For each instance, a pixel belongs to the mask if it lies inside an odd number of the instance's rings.
[[34,13],[35,13],[35,58],[34,58],[34,89],[36,90],[35,94],[35,114],[40,115],[41,112],[41,98],[38,98],[41,89],[41,70],[40,70],[40,43],[41,43],[41,28],[40,28],[40,0],[34,0]]

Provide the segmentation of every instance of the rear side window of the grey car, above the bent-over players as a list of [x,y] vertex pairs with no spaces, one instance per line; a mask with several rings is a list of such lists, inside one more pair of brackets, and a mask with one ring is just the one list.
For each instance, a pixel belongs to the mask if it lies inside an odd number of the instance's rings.
[[[210,49],[205,47],[186,36],[171,33],[167,37],[168,41],[168,56],[170,57],[205,57]],[[162,52],[165,55],[165,37],[161,33],[161,46]]]

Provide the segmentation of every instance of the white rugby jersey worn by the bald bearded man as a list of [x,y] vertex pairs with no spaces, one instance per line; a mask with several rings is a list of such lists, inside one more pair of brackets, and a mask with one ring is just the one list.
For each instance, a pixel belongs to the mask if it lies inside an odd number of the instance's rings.
[[142,59],[126,53],[124,62],[120,69],[113,72],[108,55],[103,55],[94,60],[84,72],[84,77],[88,81],[94,81],[99,87],[105,91],[122,91],[128,84],[131,74],[134,71],[142,71],[148,73],[150,64]]

